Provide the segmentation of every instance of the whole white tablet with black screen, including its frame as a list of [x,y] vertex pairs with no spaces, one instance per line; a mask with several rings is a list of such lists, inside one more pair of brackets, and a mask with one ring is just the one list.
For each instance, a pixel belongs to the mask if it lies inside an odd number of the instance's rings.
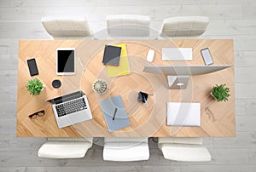
[[57,75],[75,74],[75,48],[58,48],[56,50]]

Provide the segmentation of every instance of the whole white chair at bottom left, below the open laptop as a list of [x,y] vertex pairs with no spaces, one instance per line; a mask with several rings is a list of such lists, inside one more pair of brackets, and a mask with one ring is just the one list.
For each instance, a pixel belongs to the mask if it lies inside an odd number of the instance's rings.
[[40,158],[84,158],[93,138],[48,138],[38,150]]

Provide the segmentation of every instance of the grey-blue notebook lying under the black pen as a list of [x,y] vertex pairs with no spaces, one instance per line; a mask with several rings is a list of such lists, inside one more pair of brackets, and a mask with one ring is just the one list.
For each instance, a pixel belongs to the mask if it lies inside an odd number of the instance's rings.
[[[131,126],[130,119],[128,118],[123,100],[120,95],[102,100],[100,102],[100,106],[110,133],[118,129]],[[117,110],[115,112],[116,108]],[[113,120],[114,112],[115,117]]]

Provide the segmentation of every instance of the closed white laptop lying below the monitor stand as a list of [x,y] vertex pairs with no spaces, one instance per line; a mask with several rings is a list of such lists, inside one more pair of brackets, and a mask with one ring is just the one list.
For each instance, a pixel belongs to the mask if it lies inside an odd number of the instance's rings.
[[167,125],[173,126],[200,126],[200,103],[167,103]]

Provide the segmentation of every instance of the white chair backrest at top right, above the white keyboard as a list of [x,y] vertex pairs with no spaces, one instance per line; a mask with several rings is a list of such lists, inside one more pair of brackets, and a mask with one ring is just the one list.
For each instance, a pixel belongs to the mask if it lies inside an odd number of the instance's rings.
[[160,29],[160,37],[195,37],[203,34],[209,23],[208,17],[181,16],[167,18]]

